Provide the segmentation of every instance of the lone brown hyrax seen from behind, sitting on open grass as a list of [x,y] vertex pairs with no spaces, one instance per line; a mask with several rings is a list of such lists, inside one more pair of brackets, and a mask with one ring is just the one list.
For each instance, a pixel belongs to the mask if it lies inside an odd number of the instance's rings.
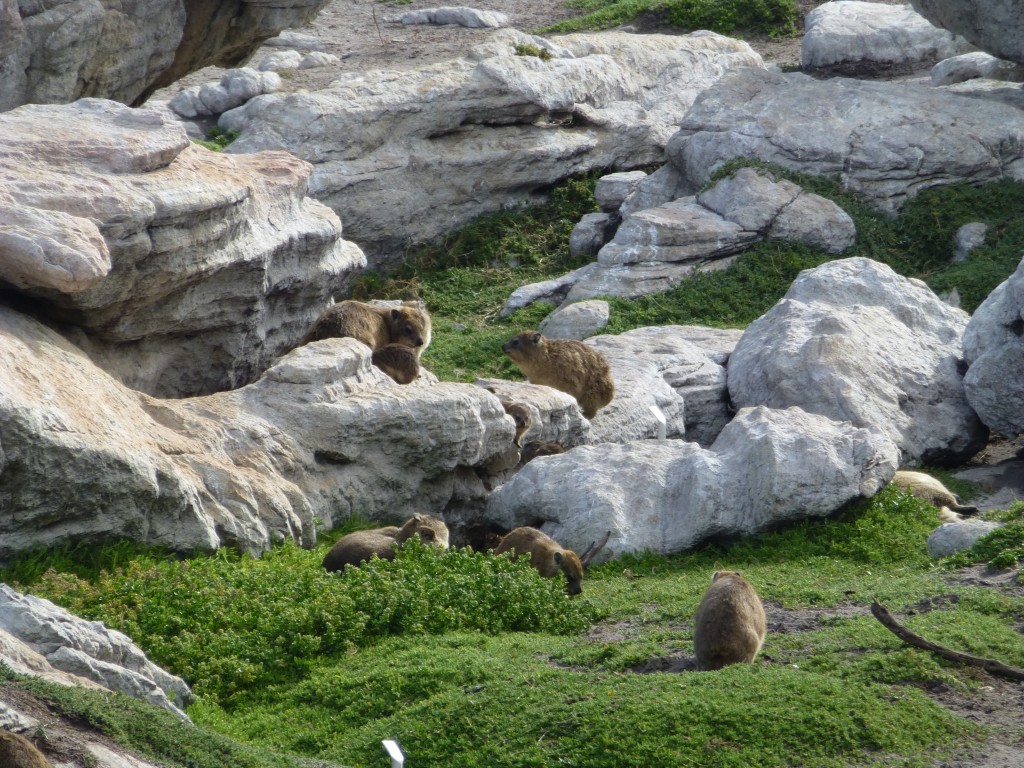
[[751,583],[734,570],[717,570],[693,616],[698,670],[750,664],[767,632],[765,607]]

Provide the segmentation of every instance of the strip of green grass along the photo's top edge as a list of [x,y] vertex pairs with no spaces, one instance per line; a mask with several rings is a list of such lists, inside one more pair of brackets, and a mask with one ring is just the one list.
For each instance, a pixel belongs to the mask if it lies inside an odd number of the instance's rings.
[[767,34],[797,34],[799,11],[794,0],[569,0],[582,15],[542,28],[542,35],[605,30],[634,22],[641,15],[689,32],[712,30]]

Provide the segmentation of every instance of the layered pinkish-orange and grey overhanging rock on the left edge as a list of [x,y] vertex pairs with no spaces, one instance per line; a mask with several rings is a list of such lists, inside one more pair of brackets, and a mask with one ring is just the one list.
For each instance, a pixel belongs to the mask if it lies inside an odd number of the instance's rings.
[[0,280],[134,389],[252,381],[366,263],[285,153],[212,153],[99,99],[2,114],[0,135]]

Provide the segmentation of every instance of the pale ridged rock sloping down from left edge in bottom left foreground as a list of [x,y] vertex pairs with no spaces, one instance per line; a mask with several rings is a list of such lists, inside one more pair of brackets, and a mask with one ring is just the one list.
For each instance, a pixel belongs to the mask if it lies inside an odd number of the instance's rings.
[[188,685],[153,664],[131,638],[0,584],[0,660],[65,685],[102,687],[188,720]]

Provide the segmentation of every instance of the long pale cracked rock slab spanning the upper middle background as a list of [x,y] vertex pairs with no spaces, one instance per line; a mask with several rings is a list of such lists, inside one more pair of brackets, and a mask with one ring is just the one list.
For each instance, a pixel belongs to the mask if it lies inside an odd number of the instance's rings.
[[[552,58],[516,55],[520,42]],[[746,43],[712,33],[555,44],[499,31],[466,58],[258,96],[219,125],[242,134],[229,153],[284,148],[313,163],[311,194],[377,264],[573,173],[660,162],[700,90],[762,66]]]

